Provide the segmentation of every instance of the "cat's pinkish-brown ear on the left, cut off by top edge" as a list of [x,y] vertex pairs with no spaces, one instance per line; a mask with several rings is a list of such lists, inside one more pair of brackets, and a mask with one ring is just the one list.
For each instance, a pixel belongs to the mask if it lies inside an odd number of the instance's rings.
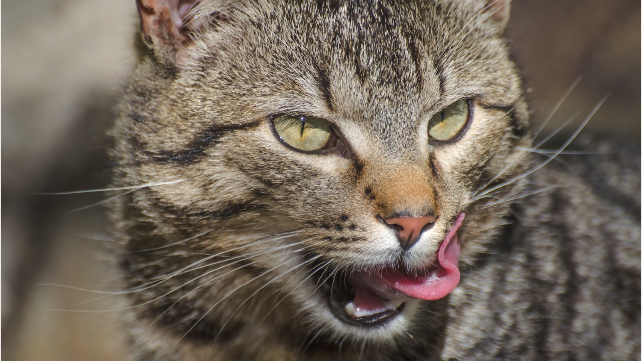
[[199,0],[136,0],[143,39],[157,61],[175,67],[191,44],[190,10]]

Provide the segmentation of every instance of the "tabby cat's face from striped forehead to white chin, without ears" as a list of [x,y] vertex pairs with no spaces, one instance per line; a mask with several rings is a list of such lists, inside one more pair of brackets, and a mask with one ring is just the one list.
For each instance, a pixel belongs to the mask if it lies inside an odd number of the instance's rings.
[[117,216],[133,284],[177,271],[169,302],[141,297],[220,325],[250,304],[260,321],[277,306],[256,299],[279,292],[306,333],[412,330],[527,164],[519,78],[483,5],[198,3],[172,70],[155,49],[114,130],[121,182],[170,182]]

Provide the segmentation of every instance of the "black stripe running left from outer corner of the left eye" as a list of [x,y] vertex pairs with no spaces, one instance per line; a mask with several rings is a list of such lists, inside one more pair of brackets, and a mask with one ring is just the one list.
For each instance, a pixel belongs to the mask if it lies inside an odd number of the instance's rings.
[[152,152],[150,150],[143,150],[143,154],[147,155],[155,163],[160,164],[192,164],[200,157],[205,155],[205,150],[210,146],[216,145],[218,140],[227,133],[234,132],[236,130],[254,128],[259,125],[259,121],[254,121],[252,123],[239,124],[239,125],[227,125],[224,127],[211,127],[200,132],[196,137],[189,142],[184,149],[173,151],[173,150],[160,150],[158,152]]

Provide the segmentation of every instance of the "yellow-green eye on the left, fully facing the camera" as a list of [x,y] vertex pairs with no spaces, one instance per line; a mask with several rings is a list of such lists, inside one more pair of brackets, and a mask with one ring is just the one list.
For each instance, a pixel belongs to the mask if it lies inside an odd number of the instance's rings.
[[312,116],[277,116],[273,122],[282,141],[304,152],[322,150],[333,136],[330,123]]

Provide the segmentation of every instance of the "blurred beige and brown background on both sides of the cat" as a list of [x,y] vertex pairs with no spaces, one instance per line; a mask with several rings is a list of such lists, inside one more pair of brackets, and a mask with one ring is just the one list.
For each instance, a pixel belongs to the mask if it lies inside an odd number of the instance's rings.
[[[135,1],[4,0],[3,8],[1,356],[126,360],[114,299],[85,303],[101,295],[48,285],[115,289],[103,209],[68,213],[105,195],[34,193],[107,184],[105,132],[134,64]],[[610,94],[586,132],[639,149],[640,2],[515,0],[511,11],[507,36],[533,122],[582,76],[550,127]]]

